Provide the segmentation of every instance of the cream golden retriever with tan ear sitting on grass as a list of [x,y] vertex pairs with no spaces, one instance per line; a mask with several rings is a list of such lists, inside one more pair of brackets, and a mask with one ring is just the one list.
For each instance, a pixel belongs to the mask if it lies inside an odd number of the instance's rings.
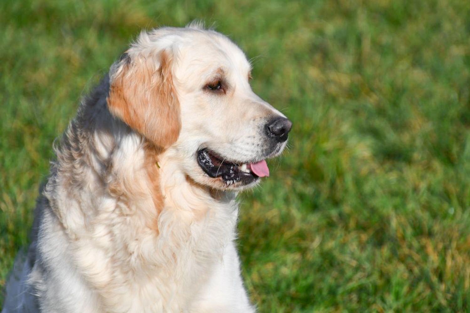
[[55,146],[2,312],[255,312],[235,197],[292,123],[250,79],[219,32],[141,32]]

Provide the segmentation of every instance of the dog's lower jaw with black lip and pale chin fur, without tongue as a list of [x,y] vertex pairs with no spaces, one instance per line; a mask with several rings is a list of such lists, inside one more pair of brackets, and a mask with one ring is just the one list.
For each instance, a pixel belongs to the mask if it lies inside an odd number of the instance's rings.
[[249,163],[227,161],[206,148],[197,152],[197,163],[204,173],[200,183],[215,189],[240,191],[260,181],[260,177],[251,171]]

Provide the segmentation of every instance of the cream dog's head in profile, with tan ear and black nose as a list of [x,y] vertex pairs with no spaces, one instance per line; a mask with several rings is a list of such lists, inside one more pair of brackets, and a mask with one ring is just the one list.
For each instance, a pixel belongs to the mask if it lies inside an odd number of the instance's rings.
[[250,87],[243,51],[197,26],[161,28],[139,39],[110,71],[110,112],[154,145],[173,149],[180,169],[217,189],[269,175],[292,126]]

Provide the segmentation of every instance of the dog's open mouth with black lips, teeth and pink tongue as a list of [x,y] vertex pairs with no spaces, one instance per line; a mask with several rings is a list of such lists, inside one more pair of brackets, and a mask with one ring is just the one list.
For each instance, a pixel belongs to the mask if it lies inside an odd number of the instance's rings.
[[197,152],[197,162],[209,177],[221,177],[227,185],[248,185],[259,177],[269,176],[265,160],[255,163],[229,162],[207,148]]

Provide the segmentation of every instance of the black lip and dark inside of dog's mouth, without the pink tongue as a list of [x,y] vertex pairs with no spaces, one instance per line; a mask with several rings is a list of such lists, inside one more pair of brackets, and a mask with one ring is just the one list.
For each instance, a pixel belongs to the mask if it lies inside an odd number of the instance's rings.
[[243,162],[224,161],[224,158],[208,148],[203,148],[197,152],[197,163],[209,177],[221,177],[225,183],[230,182],[230,185],[234,183],[248,185],[259,178],[251,171],[247,173],[240,170],[238,167]]

